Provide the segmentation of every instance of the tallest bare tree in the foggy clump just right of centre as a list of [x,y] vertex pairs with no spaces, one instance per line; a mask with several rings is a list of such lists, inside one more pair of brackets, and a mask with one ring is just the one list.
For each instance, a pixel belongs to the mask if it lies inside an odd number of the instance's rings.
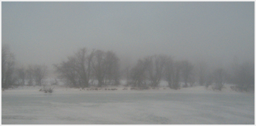
[[153,55],[148,57],[148,79],[152,87],[158,87],[164,74],[164,64],[167,62],[166,55]]

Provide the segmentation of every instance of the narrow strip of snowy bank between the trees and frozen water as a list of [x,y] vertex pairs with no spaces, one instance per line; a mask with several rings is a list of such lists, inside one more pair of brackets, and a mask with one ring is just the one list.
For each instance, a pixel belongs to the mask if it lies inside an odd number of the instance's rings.
[[[212,90],[212,87],[205,88],[204,86],[195,86],[195,87],[187,87],[181,88],[178,90],[170,89],[169,87],[159,87],[157,89],[145,89],[145,90],[133,90],[130,87],[101,87],[97,88],[97,90],[92,90],[96,87],[89,87],[85,89],[75,89],[65,87],[63,85],[56,85],[56,86],[46,86],[53,88],[53,93],[246,93],[254,95],[253,92],[239,92],[239,91],[232,91],[230,87],[233,86],[232,84],[225,84],[224,88],[221,91]],[[124,89],[126,88],[126,89]],[[2,91],[2,94],[33,94],[33,93],[43,93],[40,92],[42,87],[39,86],[23,86],[17,87],[13,89],[7,89]],[[116,89],[116,90],[111,90]]]

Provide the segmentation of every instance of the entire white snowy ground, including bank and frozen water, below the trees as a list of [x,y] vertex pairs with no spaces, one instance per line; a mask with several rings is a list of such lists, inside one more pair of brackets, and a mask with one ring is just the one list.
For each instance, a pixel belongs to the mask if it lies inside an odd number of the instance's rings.
[[[162,82],[164,85],[164,82]],[[55,86],[2,91],[1,124],[255,124],[254,93],[211,87],[87,91]]]

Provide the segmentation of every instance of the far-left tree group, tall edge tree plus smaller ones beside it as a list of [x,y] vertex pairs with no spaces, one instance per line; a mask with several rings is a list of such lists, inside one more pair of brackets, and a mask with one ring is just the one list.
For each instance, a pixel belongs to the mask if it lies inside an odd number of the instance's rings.
[[10,52],[8,45],[2,46],[2,88],[24,86],[26,81],[28,86],[33,84],[42,86],[47,74],[46,65],[28,65],[15,67],[15,56]]

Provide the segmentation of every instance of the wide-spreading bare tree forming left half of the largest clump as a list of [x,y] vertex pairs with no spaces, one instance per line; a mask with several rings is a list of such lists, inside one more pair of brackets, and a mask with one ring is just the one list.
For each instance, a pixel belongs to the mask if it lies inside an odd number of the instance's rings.
[[92,74],[92,57],[94,51],[88,53],[86,48],[80,48],[74,55],[67,57],[66,62],[54,64],[60,78],[70,87],[89,87]]

